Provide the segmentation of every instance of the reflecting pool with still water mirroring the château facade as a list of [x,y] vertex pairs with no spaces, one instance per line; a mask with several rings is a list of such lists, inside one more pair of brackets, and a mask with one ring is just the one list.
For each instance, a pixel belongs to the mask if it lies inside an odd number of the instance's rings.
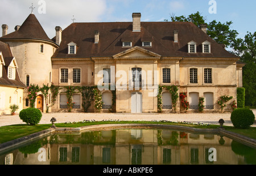
[[104,129],[53,133],[0,154],[1,165],[248,165],[256,149],[212,133]]

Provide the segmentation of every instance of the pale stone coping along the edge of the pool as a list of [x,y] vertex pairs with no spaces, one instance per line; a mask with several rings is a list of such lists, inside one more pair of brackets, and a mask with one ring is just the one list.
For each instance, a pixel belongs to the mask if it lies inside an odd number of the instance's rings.
[[206,133],[218,133],[219,135],[223,135],[226,137],[230,137],[233,140],[238,140],[241,143],[246,143],[254,148],[256,148],[256,140],[252,139],[247,136],[240,135],[238,133],[226,131],[224,128],[218,129],[200,129],[200,128],[193,128],[193,127],[184,127],[180,125],[164,125],[164,124],[100,124],[100,125],[89,125],[79,128],[49,128],[45,129],[40,132],[33,133],[28,136],[20,137],[19,139],[11,140],[6,143],[0,144],[0,153],[8,150],[10,148],[14,148],[15,146],[22,145],[28,141],[38,139],[40,137],[46,136],[49,133],[54,132],[83,132],[86,130],[98,129],[98,128],[122,128],[122,127],[155,127],[155,128],[169,128],[169,129],[176,129],[176,130],[185,130],[187,132],[206,132]]

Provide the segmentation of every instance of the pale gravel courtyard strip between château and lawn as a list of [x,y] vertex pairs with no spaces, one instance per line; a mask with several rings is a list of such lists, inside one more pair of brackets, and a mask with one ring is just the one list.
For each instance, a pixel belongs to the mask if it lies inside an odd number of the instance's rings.
[[[253,110],[256,116],[256,110]],[[56,123],[78,122],[83,120],[122,120],[122,121],[151,121],[151,120],[168,120],[168,121],[189,121],[192,123],[209,123],[218,124],[218,120],[224,119],[224,125],[232,125],[230,113],[217,114],[95,114],[95,113],[43,113],[39,124],[51,124],[51,118],[56,118]],[[0,127],[13,124],[26,124],[20,120],[19,115],[0,115]],[[253,125],[256,127],[256,124]]]

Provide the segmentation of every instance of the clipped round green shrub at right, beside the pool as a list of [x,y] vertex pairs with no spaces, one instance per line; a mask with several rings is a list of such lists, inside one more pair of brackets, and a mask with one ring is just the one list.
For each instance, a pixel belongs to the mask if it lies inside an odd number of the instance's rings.
[[255,115],[253,111],[246,108],[237,108],[231,114],[231,121],[235,128],[247,129],[250,125],[253,125],[255,121]]

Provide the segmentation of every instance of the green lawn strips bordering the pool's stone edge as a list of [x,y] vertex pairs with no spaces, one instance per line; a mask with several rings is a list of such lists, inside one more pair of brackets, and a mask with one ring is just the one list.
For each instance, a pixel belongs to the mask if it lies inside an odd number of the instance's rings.
[[[168,121],[96,121],[96,122],[86,122],[86,123],[60,123],[55,124],[56,127],[65,127],[65,128],[78,128],[84,127],[87,125],[99,125],[99,124],[165,124],[165,125],[183,125],[187,127],[193,128],[209,128],[216,129],[220,127],[220,125],[199,125],[199,124],[185,124],[185,123],[172,123]],[[48,129],[52,124],[43,124],[43,125],[10,125],[5,127],[0,127],[0,144],[6,143],[7,141],[15,140],[20,137],[31,135],[32,133],[43,131],[44,129]],[[256,128],[250,127],[249,129],[236,129],[234,127],[224,126],[224,128],[228,131],[236,132],[241,135],[251,137],[256,139]]]

